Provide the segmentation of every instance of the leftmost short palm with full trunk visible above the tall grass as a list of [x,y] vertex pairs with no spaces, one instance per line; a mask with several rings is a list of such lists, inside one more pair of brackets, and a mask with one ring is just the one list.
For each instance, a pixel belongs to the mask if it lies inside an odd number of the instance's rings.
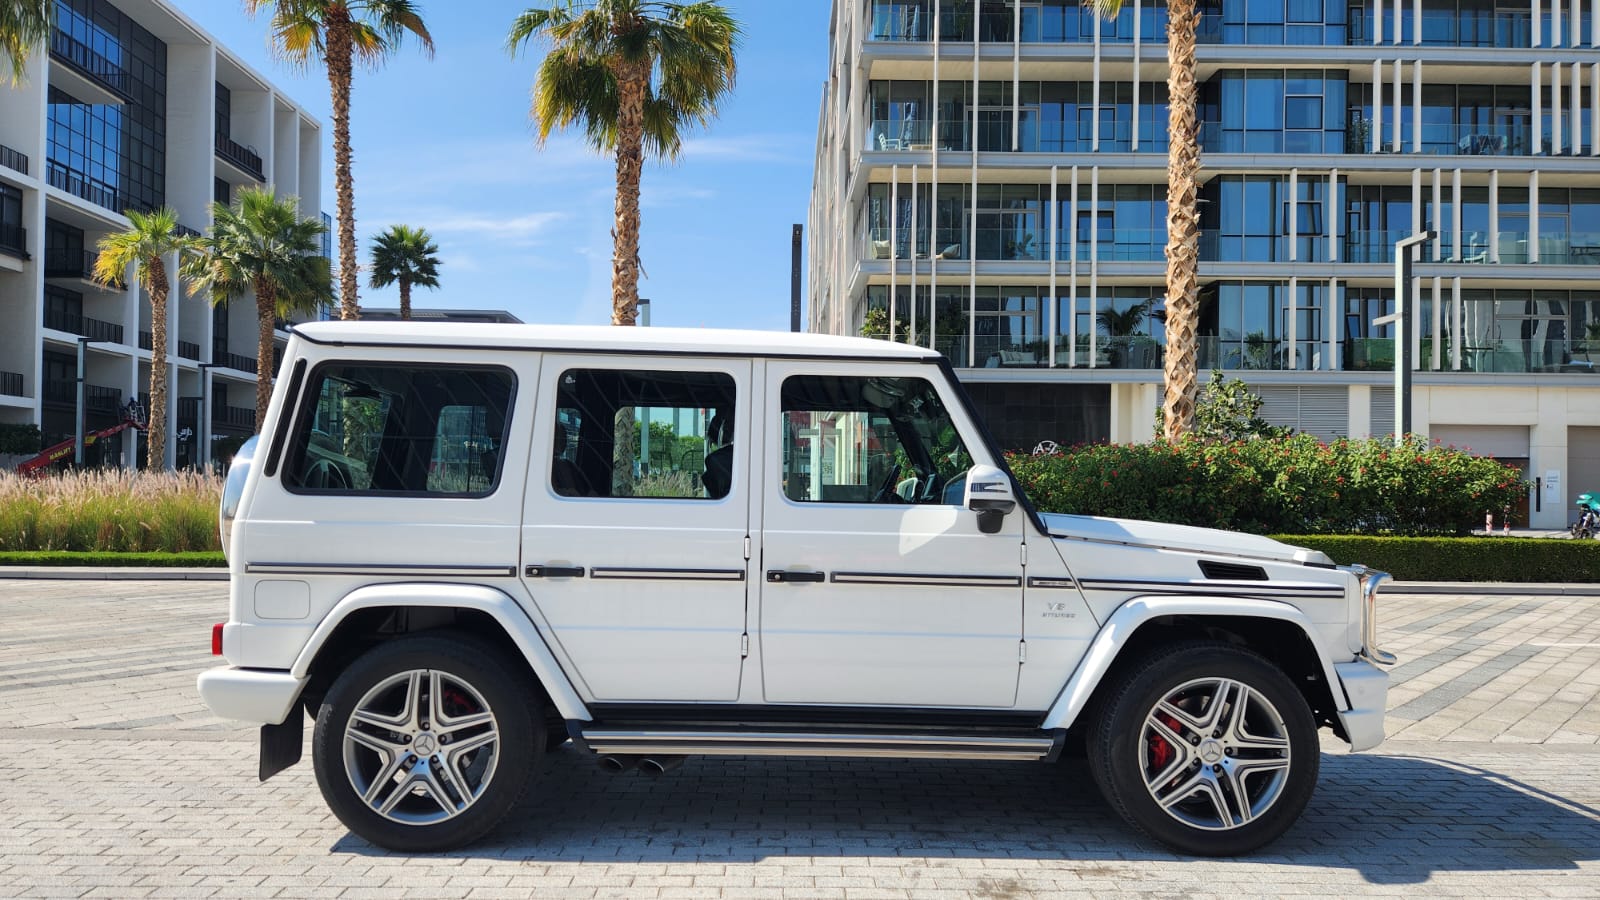
[[[150,413],[144,432],[149,436],[146,466],[166,468],[166,298],[171,280],[166,277],[166,256],[194,253],[195,239],[179,234],[178,213],[162,207],[154,213],[126,211],[126,231],[107,234],[99,242],[94,258],[94,280],[102,285],[122,285],[128,266],[134,267],[138,282],[150,295]],[[82,415],[82,410],[80,410]]]

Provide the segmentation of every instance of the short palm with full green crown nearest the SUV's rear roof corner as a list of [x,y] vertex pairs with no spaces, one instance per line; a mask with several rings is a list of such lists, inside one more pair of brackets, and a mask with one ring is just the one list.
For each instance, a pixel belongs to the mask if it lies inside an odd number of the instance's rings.
[[221,304],[256,293],[256,431],[272,399],[272,331],[278,319],[333,303],[333,275],[318,251],[326,231],[299,216],[294,197],[246,187],[234,205],[211,203],[211,231],[182,269],[190,293],[211,291]]

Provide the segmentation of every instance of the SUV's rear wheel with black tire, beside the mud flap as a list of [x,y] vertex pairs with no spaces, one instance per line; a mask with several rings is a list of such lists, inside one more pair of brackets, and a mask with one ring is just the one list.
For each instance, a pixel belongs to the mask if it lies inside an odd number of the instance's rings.
[[518,666],[472,636],[381,644],[322,701],[312,735],[317,786],[339,822],[379,847],[469,844],[506,818],[544,754],[536,698]]

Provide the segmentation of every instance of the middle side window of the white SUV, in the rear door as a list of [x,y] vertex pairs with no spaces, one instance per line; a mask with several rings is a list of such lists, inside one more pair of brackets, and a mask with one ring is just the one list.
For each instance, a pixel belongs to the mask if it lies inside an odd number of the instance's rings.
[[720,500],[733,487],[733,376],[570,368],[550,447],[560,496]]

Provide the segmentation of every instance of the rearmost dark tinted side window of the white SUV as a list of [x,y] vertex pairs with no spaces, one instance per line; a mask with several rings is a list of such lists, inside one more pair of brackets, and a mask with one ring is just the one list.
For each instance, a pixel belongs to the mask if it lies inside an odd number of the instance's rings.
[[515,384],[501,367],[317,367],[283,484],[296,493],[493,493]]

